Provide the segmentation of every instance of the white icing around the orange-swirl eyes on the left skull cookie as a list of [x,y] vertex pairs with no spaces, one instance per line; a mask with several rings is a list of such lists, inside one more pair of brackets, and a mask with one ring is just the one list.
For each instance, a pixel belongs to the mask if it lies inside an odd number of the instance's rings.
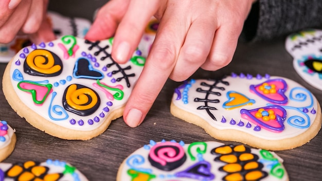
[[[133,54],[133,58],[136,57],[137,59],[133,59],[133,61],[129,60],[125,64],[117,64],[109,57],[112,49],[110,43],[112,39],[85,43],[85,40],[80,38],[76,38],[75,45],[75,47],[78,46],[79,48],[75,48],[76,50],[73,51],[73,55],[69,56],[66,51],[70,47],[70,44],[64,44],[62,42],[63,38],[40,45],[32,45],[19,51],[13,58],[10,67],[11,84],[18,96],[17,99],[20,99],[32,111],[44,119],[72,130],[95,130],[105,121],[105,118],[110,112],[124,106],[127,102],[132,88],[141,73],[145,58],[141,57],[140,51],[137,50]],[[26,58],[31,52],[39,49],[49,50],[61,59],[63,69],[59,76],[41,77],[24,73],[24,62]],[[102,75],[99,78],[100,83],[104,83],[110,87],[116,86],[117,91],[94,86],[97,83],[96,78],[88,79],[86,76],[83,78],[82,76],[74,75],[76,62],[80,59],[85,59],[87,62],[90,62],[90,66],[87,69],[99,71]],[[51,84],[52,91],[42,104],[35,104],[29,92],[22,91],[18,88],[18,84],[23,81],[33,81],[43,85]],[[63,94],[66,87],[71,84],[81,84],[90,87],[99,95],[100,104],[93,114],[80,116],[65,110],[62,98],[64,97]],[[117,100],[113,98],[113,95],[119,93],[120,89],[123,92],[123,98]],[[112,95],[112,99],[111,95],[108,96],[106,92]],[[99,121],[97,121],[97,118],[99,118]]]

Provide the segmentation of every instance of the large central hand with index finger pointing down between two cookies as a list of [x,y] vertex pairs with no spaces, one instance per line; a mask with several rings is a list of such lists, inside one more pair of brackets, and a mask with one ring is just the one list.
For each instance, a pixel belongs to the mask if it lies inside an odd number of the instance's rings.
[[232,59],[254,0],[113,0],[103,6],[86,35],[101,40],[114,35],[112,57],[127,62],[145,26],[159,21],[142,73],[124,108],[124,121],[139,125],[168,77],[188,79],[199,67],[217,70]]

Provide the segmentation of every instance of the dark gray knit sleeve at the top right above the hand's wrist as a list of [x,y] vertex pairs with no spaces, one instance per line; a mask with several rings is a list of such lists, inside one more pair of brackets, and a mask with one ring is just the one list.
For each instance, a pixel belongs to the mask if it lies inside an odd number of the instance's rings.
[[322,0],[258,0],[244,24],[247,41],[268,40],[322,27]]

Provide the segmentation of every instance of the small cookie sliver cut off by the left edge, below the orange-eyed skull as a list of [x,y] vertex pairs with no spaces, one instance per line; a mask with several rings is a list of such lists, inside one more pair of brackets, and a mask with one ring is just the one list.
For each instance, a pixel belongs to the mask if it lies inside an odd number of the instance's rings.
[[11,154],[15,142],[14,130],[8,125],[7,121],[0,120],[0,161],[6,159]]

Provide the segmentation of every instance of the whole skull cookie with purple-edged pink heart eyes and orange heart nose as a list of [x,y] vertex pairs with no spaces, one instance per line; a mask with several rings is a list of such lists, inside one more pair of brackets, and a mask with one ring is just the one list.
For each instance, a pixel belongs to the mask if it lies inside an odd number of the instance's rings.
[[171,114],[214,138],[265,150],[299,147],[321,128],[314,95],[295,81],[269,75],[186,81],[175,89]]

